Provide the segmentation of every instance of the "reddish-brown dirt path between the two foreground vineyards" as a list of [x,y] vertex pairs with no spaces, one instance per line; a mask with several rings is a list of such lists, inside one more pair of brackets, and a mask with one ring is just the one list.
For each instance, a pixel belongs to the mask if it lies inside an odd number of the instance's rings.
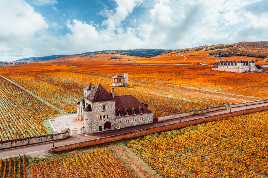
[[142,178],[154,178],[161,177],[156,173],[153,173],[151,168],[147,166],[143,160],[136,156],[129,148],[126,146],[118,146],[118,145],[108,145],[110,148],[115,150]]

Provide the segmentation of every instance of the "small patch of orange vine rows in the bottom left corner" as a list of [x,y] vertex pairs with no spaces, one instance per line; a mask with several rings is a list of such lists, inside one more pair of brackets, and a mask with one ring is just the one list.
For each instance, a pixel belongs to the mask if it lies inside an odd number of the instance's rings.
[[25,155],[23,157],[10,157],[9,159],[0,160],[0,177],[2,178],[25,178]]

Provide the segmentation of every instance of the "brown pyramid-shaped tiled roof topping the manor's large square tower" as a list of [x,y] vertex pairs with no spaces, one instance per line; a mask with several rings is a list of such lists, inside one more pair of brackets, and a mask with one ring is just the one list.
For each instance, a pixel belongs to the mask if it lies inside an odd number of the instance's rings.
[[91,103],[94,102],[102,102],[102,101],[114,101],[115,99],[101,86],[98,84],[96,88],[94,88],[90,94],[85,97],[86,100]]

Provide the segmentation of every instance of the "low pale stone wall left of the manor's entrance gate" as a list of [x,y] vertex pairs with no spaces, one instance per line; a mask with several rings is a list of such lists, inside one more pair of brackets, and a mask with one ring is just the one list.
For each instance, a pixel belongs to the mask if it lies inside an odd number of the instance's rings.
[[[61,139],[67,138],[67,137],[68,137],[68,131],[65,131],[63,133],[54,134],[54,140],[61,140]],[[36,143],[41,143],[41,142],[46,142],[46,141],[52,141],[52,134],[1,141],[0,142],[0,149],[36,144]]]

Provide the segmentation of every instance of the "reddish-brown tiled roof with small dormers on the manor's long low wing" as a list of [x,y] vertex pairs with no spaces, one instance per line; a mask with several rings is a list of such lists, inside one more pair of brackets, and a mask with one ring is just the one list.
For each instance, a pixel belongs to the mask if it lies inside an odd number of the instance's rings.
[[[133,111],[134,109],[138,110],[142,108],[143,114],[152,113],[150,109],[132,95],[114,96],[114,99],[116,100],[116,112],[118,110],[126,111],[126,109],[128,109],[129,111]],[[136,114],[140,113],[137,111]],[[132,115],[132,112],[129,112],[129,115]],[[125,116],[124,112],[121,112],[120,116]]]

